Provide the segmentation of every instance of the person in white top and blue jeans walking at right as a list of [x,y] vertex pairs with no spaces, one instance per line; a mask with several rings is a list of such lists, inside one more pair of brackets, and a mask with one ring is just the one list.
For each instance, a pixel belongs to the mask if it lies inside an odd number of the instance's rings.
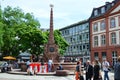
[[109,65],[109,62],[106,59],[103,60],[102,67],[103,67],[103,71],[104,71],[104,80],[106,80],[106,79],[109,80],[109,76],[108,76],[109,70],[108,70],[108,68],[110,67],[110,65]]

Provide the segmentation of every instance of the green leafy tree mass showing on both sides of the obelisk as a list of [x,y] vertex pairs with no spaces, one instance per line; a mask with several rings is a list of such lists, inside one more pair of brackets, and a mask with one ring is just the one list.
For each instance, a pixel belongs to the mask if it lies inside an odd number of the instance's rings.
[[[49,33],[39,29],[40,23],[33,14],[10,6],[1,10],[0,14],[0,47],[3,56],[17,56],[20,51],[36,55],[43,53],[43,45],[47,43]],[[54,36],[59,52],[63,54],[68,44],[60,31],[54,31]]]

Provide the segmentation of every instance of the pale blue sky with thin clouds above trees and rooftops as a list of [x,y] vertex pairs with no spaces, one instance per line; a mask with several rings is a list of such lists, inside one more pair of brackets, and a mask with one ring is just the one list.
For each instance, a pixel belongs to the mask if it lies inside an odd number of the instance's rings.
[[50,4],[53,4],[54,29],[61,29],[68,25],[86,20],[93,8],[105,5],[113,0],[0,0],[2,9],[8,5],[19,7],[25,13],[33,13],[39,20],[40,28],[49,28]]

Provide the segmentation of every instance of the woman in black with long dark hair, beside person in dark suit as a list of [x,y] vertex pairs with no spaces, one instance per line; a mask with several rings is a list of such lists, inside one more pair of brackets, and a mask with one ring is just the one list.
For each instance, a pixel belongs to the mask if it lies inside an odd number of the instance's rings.
[[93,67],[93,80],[99,80],[101,77],[100,73],[100,66],[98,60],[94,61],[94,67]]

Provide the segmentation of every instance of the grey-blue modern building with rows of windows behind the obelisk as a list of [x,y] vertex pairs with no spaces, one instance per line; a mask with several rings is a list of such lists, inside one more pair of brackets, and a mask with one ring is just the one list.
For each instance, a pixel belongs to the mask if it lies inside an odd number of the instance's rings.
[[60,29],[62,36],[69,43],[65,51],[66,58],[83,60],[90,58],[89,21],[84,20]]

